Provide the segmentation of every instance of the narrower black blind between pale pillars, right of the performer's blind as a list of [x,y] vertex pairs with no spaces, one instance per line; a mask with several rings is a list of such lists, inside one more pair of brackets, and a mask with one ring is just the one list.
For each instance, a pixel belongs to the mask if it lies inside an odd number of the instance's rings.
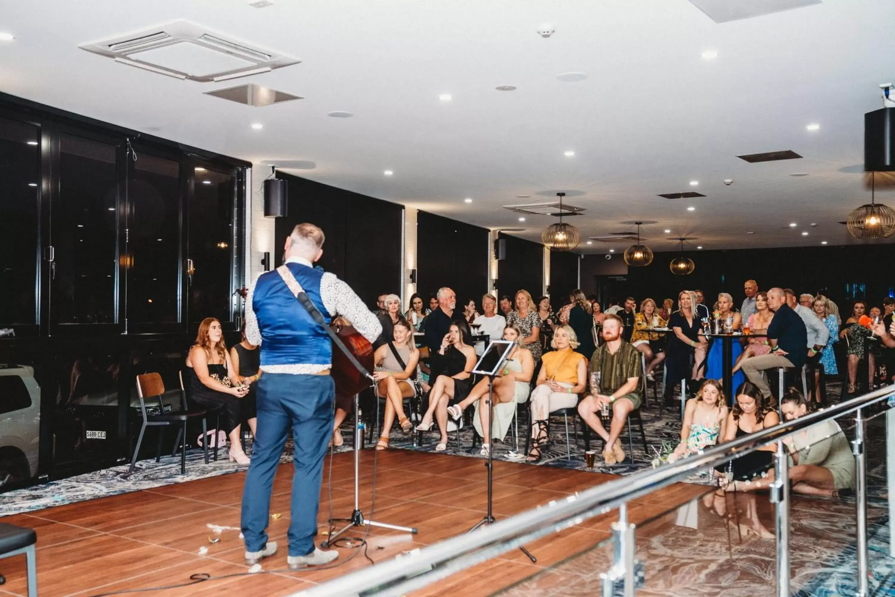
[[473,299],[481,312],[482,294],[489,290],[488,238],[486,228],[417,211],[417,292],[428,301],[430,294],[449,286],[456,293],[458,309]]

